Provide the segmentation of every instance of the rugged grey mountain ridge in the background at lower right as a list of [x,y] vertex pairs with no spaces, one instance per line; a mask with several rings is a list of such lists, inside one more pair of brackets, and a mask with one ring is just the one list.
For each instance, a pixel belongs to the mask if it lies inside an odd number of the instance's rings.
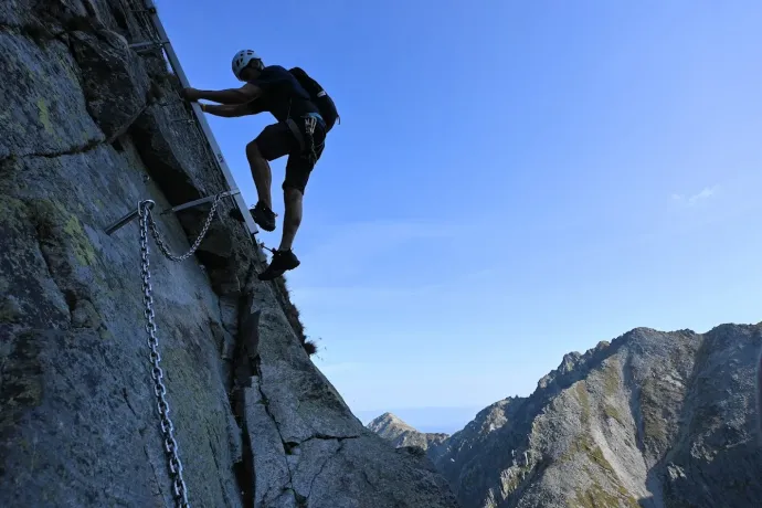
[[467,508],[758,506],[761,346],[762,325],[637,328],[564,356],[430,456]]

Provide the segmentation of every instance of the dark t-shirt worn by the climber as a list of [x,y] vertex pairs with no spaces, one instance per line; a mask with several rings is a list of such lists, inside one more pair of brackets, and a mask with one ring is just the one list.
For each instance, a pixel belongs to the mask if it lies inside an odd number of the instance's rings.
[[278,121],[320,113],[294,74],[281,65],[266,66],[250,83],[262,88],[262,95],[251,104],[252,113],[269,112]]

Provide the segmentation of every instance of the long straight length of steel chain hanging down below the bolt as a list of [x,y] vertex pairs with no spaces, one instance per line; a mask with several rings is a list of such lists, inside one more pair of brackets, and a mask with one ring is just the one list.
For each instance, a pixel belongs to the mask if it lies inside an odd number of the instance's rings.
[[156,338],[156,322],[154,322],[154,297],[151,295],[151,274],[149,271],[150,262],[148,261],[148,223],[152,222],[150,209],[155,202],[151,200],[141,201],[138,204],[138,214],[140,218],[140,254],[141,254],[141,272],[142,272],[142,298],[146,304],[146,332],[148,334],[148,346],[150,347],[150,359],[152,363],[151,377],[154,378],[155,387],[154,393],[158,399],[157,408],[159,409],[159,416],[161,421],[161,432],[165,435],[165,449],[169,458],[169,470],[172,476],[172,487],[174,490],[176,506],[180,508],[190,508],[188,502],[188,490],[186,488],[186,480],[182,478],[182,463],[178,453],[178,444],[174,441],[174,425],[169,419],[169,404],[165,395],[167,388],[163,383],[163,371],[159,367],[161,356],[159,354],[159,341]]

